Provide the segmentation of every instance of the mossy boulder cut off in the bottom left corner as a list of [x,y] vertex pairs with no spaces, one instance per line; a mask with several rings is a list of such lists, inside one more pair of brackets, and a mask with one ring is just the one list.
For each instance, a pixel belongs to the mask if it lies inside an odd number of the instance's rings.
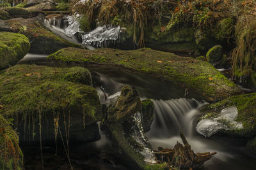
[[[0,108],[1,110],[1,108]],[[3,115],[0,114],[0,169],[24,169],[19,137]]]

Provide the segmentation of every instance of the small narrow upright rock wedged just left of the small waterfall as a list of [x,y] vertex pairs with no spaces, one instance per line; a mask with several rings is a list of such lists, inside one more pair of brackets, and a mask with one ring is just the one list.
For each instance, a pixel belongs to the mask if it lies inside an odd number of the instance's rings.
[[150,99],[141,102],[141,120],[144,132],[150,131],[154,120],[154,103]]

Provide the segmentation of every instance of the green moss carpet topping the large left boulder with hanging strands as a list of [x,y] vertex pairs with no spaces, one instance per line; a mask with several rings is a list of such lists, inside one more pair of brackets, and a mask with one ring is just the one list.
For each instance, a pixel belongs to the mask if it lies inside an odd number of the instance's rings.
[[[77,69],[77,67],[76,67]],[[0,113],[6,117],[50,116],[62,110],[85,114],[85,124],[103,118],[97,90],[68,81],[65,76],[74,69],[17,65],[0,75]],[[78,73],[78,71],[77,71]],[[87,80],[88,81],[88,80]],[[37,113],[37,114],[36,114]]]

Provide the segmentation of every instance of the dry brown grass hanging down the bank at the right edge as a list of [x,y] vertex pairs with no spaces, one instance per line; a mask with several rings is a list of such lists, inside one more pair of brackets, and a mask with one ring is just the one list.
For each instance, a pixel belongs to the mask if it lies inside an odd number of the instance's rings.
[[236,24],[237,46],[232,51],[232,75],[236,77],[250,77],[256,85],[255,50],[256,50],[256,3],[250,1],[244,4],[239,13]]

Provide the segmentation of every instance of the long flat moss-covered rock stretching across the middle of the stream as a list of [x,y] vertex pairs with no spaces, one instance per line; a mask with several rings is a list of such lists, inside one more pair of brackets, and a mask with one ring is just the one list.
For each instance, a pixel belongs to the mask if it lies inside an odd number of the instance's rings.
[[122,66],[143,73],[162,76],[170,81],[190,87],[204,99],[216,101],[237,94],[240,89],[225,78],[211,64],[173,53],[159,52],[150,48],[122,51],[111,48],[83,50],[64,48],[49,55],[49,60],[79,64],[104,64]]

